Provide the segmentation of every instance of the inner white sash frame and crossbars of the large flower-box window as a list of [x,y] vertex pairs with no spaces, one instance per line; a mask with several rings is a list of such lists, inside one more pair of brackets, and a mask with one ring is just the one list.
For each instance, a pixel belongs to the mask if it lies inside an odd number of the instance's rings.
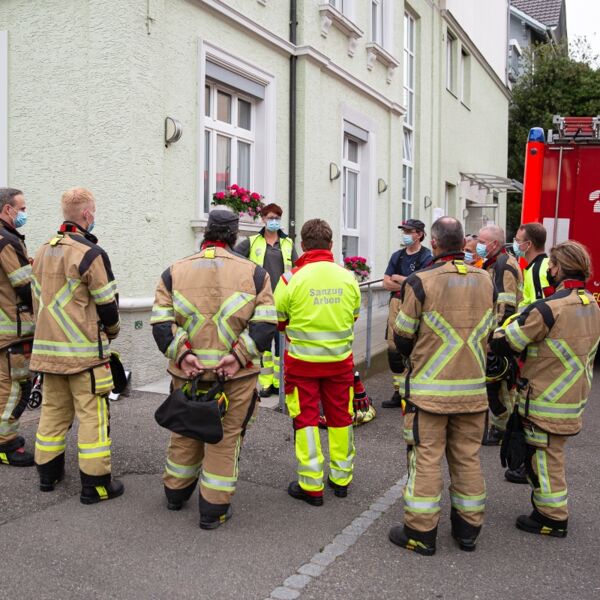
[[[210,88],[210,105],[211,105],[211,114],[207,116],[204,115],[204,135],[206,136],[206,132],[210,133],[210,152],[209,152],[209,169],[208,169],[208,180],[209,180],[209,190],[208,190],[208,207],[205,205],[206,199],[203,198],[203,206],[202,209],[206,213],[210,210],[210,199],[212,195],[217,191],[217,181],[216,181],[216,169],[217,169],[217,136],[222,136],[228,138],[230,140],[230,161],[231,161],[231,170],[229,175],[229,185],[232,183],[237,183],[241,185],[241,181],[239,180],[239,175],[237,173],[238,169],[238,142],[243,142],[250,145],[250,181],[246,184],[252,191],[254,191],[255,186],[255,142],[256,142],[256,104],[257,101],[250,96],[237,92],[227,86],[206,80],[206,87]],[[226,123],[223,121],[219,121],[217,119],[217,97],[218,93],[223,92],[229,94],[231,96],[231,123]],[[238,127],[238,106],[239,100],[245,100],[250,103],[250,126],[251,129],[243,129],[242,127]],[[205,106],[206,110],[206,106]],[[205,146],[203,146],[205,148]],[[204,167],[204,163],[202,165]],[[204,180],[204,178],[203,178]],[[208,210],[207,210],[208,208]]]

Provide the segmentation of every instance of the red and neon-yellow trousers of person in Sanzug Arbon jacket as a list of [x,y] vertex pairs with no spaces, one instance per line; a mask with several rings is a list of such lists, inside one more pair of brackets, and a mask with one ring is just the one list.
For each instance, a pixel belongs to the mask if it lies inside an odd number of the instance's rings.
[[319,436],[319,403],[327,419],[329,478],[347,486],[354,467],[354,369],[328,377],[285,374],[285,399],[294,419],[298,483],[313,495],[323,493],[323,464]]

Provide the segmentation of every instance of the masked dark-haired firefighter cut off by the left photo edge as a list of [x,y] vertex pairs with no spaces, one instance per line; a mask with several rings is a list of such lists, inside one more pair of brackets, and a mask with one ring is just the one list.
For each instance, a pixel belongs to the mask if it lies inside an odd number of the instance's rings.
[[0,464],[33,466],[33,454],[18,435],[29,400],[29,357],[33,337],[31,265],[25,236],[23,192],[0,188]]

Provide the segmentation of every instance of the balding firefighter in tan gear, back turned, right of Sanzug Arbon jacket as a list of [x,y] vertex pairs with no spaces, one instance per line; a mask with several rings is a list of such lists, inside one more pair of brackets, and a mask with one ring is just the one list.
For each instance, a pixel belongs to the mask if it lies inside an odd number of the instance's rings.
[[435,553],[444,455],[452,536],[462,550],[474,550],[481,530],[485,357],[495,323],[494,286],[487,273],[464,263],[461,224],[442,217],[431,238],[433,265],[406,280],[394,325],[398,351],[410,361],[403,407],[408,479],[404,526],[389,533],[393,543],[427,556]]

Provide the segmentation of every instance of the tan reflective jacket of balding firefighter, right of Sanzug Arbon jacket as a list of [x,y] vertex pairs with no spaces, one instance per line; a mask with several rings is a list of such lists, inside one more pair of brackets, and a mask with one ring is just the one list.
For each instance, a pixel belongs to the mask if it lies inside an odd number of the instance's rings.
[[[486,344],[495,325],[489,275],[462,254],[437,257],[408,277],[401,296],[394,332],[410,357],[410,401],[438,414],[486,410]],[[405,396],[402,383],[400,391]]]

